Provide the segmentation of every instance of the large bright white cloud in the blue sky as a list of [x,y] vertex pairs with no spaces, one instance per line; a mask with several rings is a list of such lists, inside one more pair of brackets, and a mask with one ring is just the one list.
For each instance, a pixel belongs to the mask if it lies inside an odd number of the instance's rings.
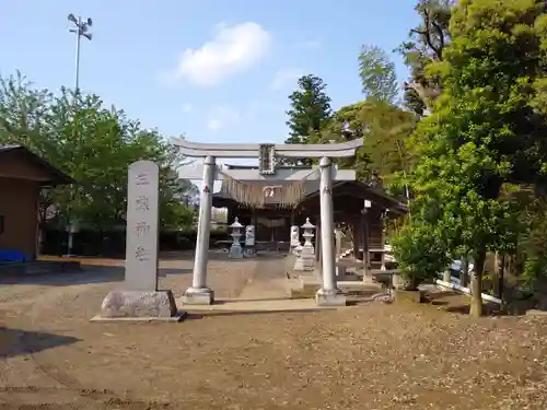
[[176,78],[201,86],[220,84],[265,58],[271,42],[270,33],[257,23],[221,24],[210,42],[183,52]]

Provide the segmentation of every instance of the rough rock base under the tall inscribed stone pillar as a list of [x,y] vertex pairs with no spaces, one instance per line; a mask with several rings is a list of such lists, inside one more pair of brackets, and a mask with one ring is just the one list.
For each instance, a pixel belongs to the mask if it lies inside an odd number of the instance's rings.
[[172,291],[110,291],[92,321],[181,321],[186,312],[178,312]]

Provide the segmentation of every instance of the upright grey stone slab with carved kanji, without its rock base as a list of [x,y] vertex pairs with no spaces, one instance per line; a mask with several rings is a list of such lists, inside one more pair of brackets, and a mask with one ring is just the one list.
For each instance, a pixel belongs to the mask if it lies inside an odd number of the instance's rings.
[[152,161],[129,166],[126,289],[158,290],[159,168]]

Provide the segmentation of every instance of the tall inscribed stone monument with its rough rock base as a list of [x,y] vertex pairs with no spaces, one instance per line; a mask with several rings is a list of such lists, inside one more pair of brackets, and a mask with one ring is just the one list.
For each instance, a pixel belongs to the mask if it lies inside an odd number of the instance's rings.
[[159,167],[152,161],[129,166],[126,272],[92,320],[181,320],[171,290],[158,289]]

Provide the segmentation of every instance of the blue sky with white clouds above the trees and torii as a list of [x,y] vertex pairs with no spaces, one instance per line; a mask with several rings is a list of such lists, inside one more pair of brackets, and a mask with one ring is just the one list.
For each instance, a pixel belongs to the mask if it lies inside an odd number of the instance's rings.
[[[394,49],[415,0],[0,0],[0,72],[73,86],[67,15],[92,17],[80,86],[147,128],[203,142],[282,142],[296,78],[323,78],[333,107],[361,99],[362,44]],[[394,55],[403,81],[406,69]]]

